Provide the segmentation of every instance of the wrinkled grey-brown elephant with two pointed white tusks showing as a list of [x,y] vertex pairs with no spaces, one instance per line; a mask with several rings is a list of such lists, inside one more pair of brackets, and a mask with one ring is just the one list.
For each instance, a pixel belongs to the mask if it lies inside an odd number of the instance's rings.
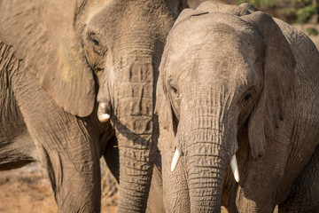
[[307,36],[248,4],[184,10],[157,85],[167,212],[318,212],[318,69]]

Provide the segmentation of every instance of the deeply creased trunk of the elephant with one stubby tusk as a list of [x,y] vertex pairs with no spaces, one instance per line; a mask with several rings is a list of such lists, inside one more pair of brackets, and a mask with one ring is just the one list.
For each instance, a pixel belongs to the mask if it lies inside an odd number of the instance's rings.
[[113,122],[120,150],[119,212],[146,209],[157,138],[153,135],[152,67],[151,61],[139,59],[123,68],[114,89]]

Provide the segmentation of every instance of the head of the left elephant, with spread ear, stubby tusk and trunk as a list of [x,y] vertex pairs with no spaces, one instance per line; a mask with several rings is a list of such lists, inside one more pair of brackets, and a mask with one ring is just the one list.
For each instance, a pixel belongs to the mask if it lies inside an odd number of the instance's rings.
[[0,37],[56,104],[110,119],[120,150],[119,210],[143,211],[157,145],[155,83],[178,0],[0,3]]

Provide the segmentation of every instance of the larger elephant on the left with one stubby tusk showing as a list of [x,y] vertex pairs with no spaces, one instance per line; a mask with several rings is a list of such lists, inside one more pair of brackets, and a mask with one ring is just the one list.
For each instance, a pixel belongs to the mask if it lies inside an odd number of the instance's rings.
[[[99,212],[104,155],[120,181],[119,212],[143,212],[157,153],[159,60],[184,6],[1,1],[0,170],[38,160],[60,212]],[[105,107],[97,109],[98,102]],[[111,114],[111,122],[98,122],[97,111]],[[152,203],[161,208],[155,173]]]

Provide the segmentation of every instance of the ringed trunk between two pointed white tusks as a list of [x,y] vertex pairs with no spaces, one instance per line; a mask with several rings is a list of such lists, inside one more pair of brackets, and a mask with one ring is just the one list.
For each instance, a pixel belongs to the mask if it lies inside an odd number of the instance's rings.
[[188,102],[191,125],[185,138],[191,212],[220,212],[224,172],[237,149],[229,114],[232,95],[216,88],[197,92]]

